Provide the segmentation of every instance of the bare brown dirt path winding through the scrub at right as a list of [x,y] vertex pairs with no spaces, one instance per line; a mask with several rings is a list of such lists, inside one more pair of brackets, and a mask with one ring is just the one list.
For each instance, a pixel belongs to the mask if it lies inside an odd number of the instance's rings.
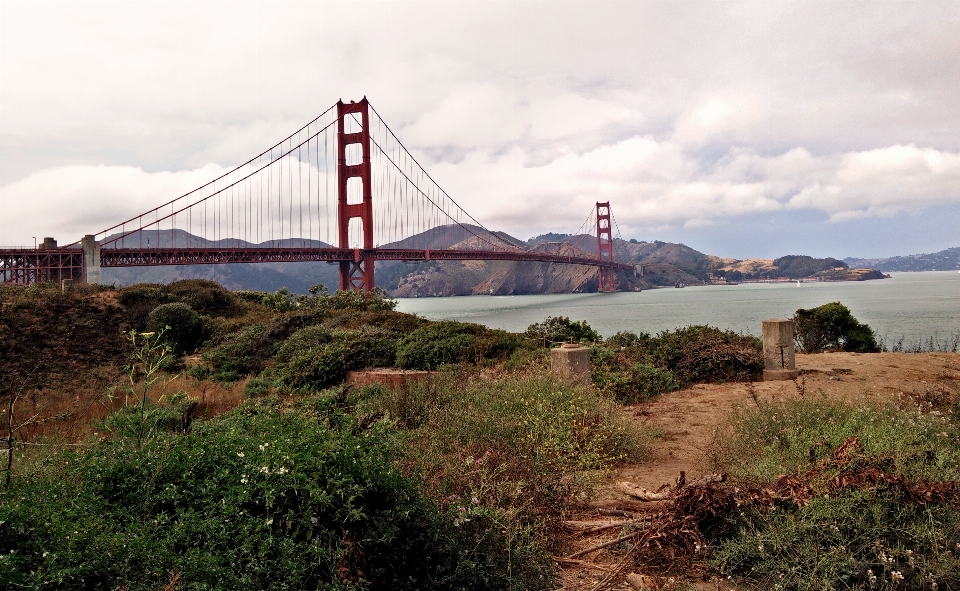
[[[761,401],[777,401],[805,396],[881,401],[897,400],[931,391],[937,387],[960,388],[960,354],[957,353],[824,353],[797,355],[797,368],[802,370],[796,381],[754,382],[755,395]],[[706,451],[717,428],[737,407],[753,405],[746,384],[703,384],[673,392],[642,404],[624,407],[629,420],[647,429],[659,432],[649,458],[642,464],[624,466],[613,475],[603,490],[603,500],[628,499],[616,490],[619,481],[628,481],[639,487],[656,490],[673,484],[681,471],[688,480],[700,478],[710,471]],[[610,506],[615,506],[610,503]],[[574,516],[578,520],[594,520],[597,524],[614,521],[616,517],[603,515]],[[573,550],[589,548],[619,535],[616,529],[596,535],[574,535]],[[613,548],[618,548],[613,546]],[[563,566],[561,589],[586,591],[594,589],[620,560],[623,548],[599,550],[580,556],[587,563]],[[571,552],[572,553],[572,552]],[[637,572],[642,569],[629,569]],[[636,580],[636,579],[634,579]],[[717,591],[736,589],[728,581],[696,580],[674,577],[673,580],[647,579],[647,589],[688,589]],[[605,589],[636,589],[638,586],[623,581],[606,585]]]

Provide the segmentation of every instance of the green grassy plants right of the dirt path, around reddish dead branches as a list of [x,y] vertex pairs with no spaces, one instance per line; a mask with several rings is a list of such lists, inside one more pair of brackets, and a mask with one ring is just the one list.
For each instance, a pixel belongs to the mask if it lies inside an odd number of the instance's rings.
[[711,446],[738,481],[828,466],[809,504],[730,514],[715,532],[713,563],[757,588],[953,589],[960,586],[960,512],[904,498],[893,486],[832,489],[834,450],[862,444],[843,469],[879,466],[910,482],[960,479],[955,419],[922,407],[856,407],[826,400],[741,410]]

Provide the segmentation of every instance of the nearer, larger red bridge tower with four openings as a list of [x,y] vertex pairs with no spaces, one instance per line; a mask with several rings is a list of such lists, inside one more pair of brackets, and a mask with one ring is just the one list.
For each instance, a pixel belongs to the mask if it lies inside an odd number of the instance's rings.
[[[346,133],[347,118],[356,122],[360,117],[361,129]],[[340,262],[340,289],[370,291],[373,283],[373,185],[370,181],[370,115],[367,97],[359,103],[337,102],[337,229],[338,246],[350,248],[350,220],[360,218],[363,230],[363,248],[353,250],[352,261]],[[360,144],[360,162],[347,163],[347,146]],[[360,180],[360,201],[350,203],[347,194],[349,180]]]

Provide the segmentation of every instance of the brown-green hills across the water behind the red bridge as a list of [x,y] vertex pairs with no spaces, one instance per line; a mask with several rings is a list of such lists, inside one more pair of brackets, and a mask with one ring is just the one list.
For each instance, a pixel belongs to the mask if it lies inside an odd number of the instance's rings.
[[[128,246],[150,244],[171,247],[191,244],[209,247],[329,247],[325,242],[301,239],[259,243],[237,239],[206,241],[183,230],[147,232],[142,236],[132,234],[125,241]],[[597,255],[597,239],[589,234],[549,233],[523,241],[503,232],[490,232],[479,226],[457,225],[439,226],[383,247],[489,250],[504,243],[539,252],[572,256]],[[852,269],[851,264],[833,258],[789,255],[776,260],[738,260],[704,254],[685,244],[660,240],[646,242],[614,239],[613,247],[616,260],[632,263],[639,270],[639,276],[630,273],[618,275],[617,283],[622,290],[642,290],[677,283],[702,285],[808,277],[828,281],[851,281],[883,277],[881,273],[870,269]],[[117,285],[168,284],[182,279],[209,279],[228,289],[276,291],[286,287],[294,293],[306,293],[311,285],[317,283],[334,287],[339,281],[337,266],[328,263],[172,265],[104,269],[103,277],[106,283]],[[594,267],[516,261],[380,261],[376,267],[376,278],[377,285],[394,297],[595,292],[598,283]]]

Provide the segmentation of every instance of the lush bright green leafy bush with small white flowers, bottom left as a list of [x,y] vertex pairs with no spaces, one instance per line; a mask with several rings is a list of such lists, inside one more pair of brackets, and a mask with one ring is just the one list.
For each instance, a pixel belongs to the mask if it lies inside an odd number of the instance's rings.
[[471,543],[391,465],[391,440],[384,423],[336,404],[286,412],[262,399],[186,435],[71,453],[59,477],[0,493],[0,580],[153,590],[177,573],[182,589],[522,588],[522,564],[489,568],[493,546]]

